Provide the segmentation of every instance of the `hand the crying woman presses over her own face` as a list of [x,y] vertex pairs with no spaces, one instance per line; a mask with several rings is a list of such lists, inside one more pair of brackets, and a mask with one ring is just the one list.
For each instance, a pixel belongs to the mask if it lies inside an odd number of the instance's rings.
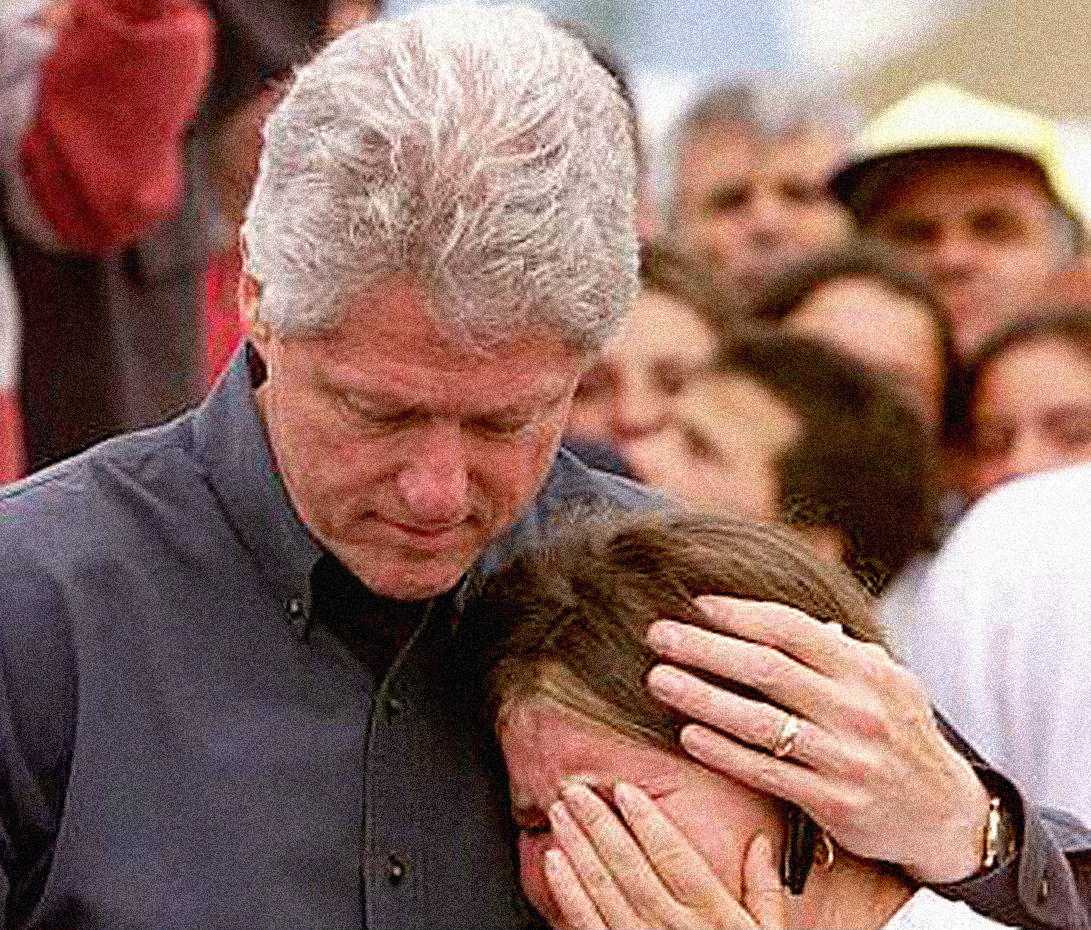
[[565,930],[782,928],[788,902],[768,839],[746,853],[742,904],[639,788],[619,782],[616,812],[572,782],[549,812],[546,878]]

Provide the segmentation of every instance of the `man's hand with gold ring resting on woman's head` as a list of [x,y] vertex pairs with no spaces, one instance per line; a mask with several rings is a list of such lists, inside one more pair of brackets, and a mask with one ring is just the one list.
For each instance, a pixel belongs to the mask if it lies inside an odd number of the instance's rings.
[[[702,597],[697,606],[708,629],[662,620],[648,633],[664,660],[648,673],[649,689],[695,720],[682,730],[686,751],[799,804],[856,856],[931,884],[979,870],[988,792],[939,732],[911,672],[882,646],[783,605]],[[748,685],[779,707],[686,668]]]

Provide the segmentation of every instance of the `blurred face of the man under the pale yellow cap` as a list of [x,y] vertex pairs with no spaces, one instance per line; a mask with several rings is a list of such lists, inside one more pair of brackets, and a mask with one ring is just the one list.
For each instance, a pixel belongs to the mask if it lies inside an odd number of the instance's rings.
[[1074,258],[1041,171],[1003,153],[944,153],[914,166],[867,231],[925,275],[962,354],[1040,301]]

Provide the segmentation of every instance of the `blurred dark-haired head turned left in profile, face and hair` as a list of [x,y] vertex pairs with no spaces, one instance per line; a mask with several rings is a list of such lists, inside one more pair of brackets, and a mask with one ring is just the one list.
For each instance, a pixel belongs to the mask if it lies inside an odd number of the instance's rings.
[[873,592],[935,540],[931,437],[892,391],[805,339],[739,339],[630,456],[693,508],[805,529]]

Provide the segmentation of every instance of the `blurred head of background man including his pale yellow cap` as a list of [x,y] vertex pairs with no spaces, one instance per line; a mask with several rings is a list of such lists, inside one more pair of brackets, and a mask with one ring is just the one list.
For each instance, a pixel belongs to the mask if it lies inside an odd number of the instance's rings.
[[1048,302],[1083,241],[1057,126],[943,83],[853,142],[832,181],[862,233],[933,286],[964,357]]

